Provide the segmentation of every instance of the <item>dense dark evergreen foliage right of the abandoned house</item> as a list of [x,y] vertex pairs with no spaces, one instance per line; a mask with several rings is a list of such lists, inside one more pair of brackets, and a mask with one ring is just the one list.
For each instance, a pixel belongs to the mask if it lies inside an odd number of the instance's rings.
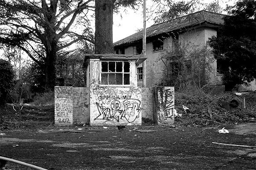
[[256,1],[241,0],[227,9],[231,15],[223,18],[224,25],[209,45],[224,65],[227,88],[233,88],[256,78]]

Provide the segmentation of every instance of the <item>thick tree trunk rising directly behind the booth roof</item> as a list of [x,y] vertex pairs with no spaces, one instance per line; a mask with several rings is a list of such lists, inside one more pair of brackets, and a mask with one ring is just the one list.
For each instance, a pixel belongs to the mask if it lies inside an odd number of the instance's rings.
[[113,7],[115,0],[95,0],[95,54],[113,53]]

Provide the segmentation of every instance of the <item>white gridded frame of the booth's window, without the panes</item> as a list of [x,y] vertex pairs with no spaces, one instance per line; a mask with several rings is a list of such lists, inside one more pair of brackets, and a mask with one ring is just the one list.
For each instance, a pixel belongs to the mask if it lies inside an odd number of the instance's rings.
[[[102,62],[108,62],[108,72],[105,72],[105,71],[102,71]],[[109,70],[109,62],[115,62],[115,72],[111,72]],[[116,62],[122,62],[122,72],[116,72]],[[128,62],[129,63],[129,72],[125,72],[124,70],[124,63],[125,62]],[[108,74],[108,84],[102,84],[102,74]],[[109,84],[109,74],[122,74],[122,84]],[[129,75],[129,84],[124,84],[125,82],[125,74],[128,74]],[[105,86],[122,86],[122,87],[130,87],[131,86],[131,62],[130,61],[111,61],[111,60],[102,60],[100,61],[100,71],[99,71],[99,80],[100,80],[100,87],[105,87]],[[116,82],[115,82],[116,83]]]

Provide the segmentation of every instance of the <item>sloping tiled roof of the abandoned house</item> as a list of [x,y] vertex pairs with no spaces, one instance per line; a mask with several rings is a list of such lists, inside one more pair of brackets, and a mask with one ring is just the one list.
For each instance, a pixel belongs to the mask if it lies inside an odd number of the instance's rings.
[[[209,11],[198,11],[193,14],[189,14],[180,18],[177,18],[172,21],[166,21],[164,23],[155,24],[147,28],[147,37],[153,37],[159,34],[168,33],[170,31],[179,31],[184,28],[189,28],[192,26],[196,26],[202,23],[209,23],[213,25],[221,25],[223,24],[222,18],[225,15],[217,14]],[[135,42],[138,40],[142,40],[143,38],[143,30],[139,31],[129,37],[126,37],[122,40],[114,42],[114,46],[124,45],[131,42]]]

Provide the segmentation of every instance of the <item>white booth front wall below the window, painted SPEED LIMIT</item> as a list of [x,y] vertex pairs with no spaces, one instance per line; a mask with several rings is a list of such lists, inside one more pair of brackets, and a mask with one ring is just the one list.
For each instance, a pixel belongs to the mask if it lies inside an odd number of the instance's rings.
[[90,88],[90,125],[141,125],[140,87]]

